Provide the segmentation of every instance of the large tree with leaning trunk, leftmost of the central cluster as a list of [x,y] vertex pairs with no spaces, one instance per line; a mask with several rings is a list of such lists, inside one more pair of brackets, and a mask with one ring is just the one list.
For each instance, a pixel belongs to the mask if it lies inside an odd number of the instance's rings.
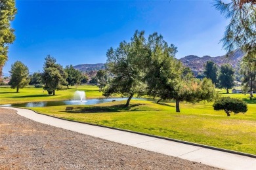
[[106,67],[114,77],[104,88],[103,94],[127,96],[125,107],[129,106],[133,95],[140,95],[144,89],[139,69],[140,58],[147,52],[144,41],[144,31],[136,31],[131,42],[123,41],[116,49],[110,48],[107,52]]

